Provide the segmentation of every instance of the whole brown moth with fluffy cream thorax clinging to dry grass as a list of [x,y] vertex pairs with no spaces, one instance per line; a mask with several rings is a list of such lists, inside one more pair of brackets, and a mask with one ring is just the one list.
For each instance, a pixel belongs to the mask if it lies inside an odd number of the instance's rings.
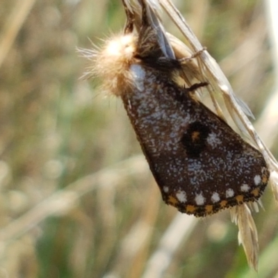
[[122,99],[164,202],[197,217],[256,202],[270,176],[261,152],[195,97],[208,83],[177,82],[183,59],[165,55],[143,3],[140,20],[92,52],[92,74]]

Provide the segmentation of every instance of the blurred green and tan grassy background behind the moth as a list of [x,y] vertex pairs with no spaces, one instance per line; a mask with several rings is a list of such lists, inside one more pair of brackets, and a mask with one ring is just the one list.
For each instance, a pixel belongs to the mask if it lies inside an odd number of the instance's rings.
[[[259,117],[274,83],[262,1],[175,3]],[[142,277],[176,215],[121,102],[80,79],[76,47],[124,22],[120,0],[1,0],[0,278]],[[278,208],[269,189],[262,199],[259,275],[224,211],[197,222],[161,277],[278,277]]]

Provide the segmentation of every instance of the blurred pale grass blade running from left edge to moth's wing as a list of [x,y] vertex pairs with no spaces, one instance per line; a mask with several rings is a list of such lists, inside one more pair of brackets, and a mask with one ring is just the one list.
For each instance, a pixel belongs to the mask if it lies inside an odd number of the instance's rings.
[[0,241],[8,242],[22,236],[40,222],[53,215],[64,215],[76,206],[80,197],[97,188],[97,186],[116,186],[129,175],[147,174],[147,163],[143,156],[135,156],[122,161],[115,167],[108,167],[97,173],[83,177],[71,183],[65,190],[59,190],[21,217],[10,222],[0,230]]

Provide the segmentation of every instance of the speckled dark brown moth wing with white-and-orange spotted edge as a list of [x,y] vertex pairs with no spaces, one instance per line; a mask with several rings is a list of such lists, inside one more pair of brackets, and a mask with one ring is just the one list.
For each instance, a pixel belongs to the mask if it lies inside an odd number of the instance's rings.
[[171,76],[138,63],[122,95],[167,204],[196,216],[254,202],[268,182],[262,154]]

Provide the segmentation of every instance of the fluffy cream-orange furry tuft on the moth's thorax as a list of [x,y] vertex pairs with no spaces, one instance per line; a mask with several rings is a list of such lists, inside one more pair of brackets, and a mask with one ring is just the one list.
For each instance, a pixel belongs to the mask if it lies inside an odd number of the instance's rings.
[[103,88],[120,96],[132,84],[129,70],[136,51],[136,35],[120,35],[108,40],[96,59],[97,75],[104,81]]

